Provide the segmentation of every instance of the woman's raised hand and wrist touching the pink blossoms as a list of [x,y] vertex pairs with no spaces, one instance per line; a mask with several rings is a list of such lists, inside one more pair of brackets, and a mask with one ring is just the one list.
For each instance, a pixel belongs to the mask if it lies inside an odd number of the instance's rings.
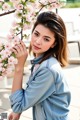
[[15,53],[15,55],[18,59],[18,64],[16,65],[16,67],[23,68],[24,64],[25,64],[25,61],[28,57],[28,51],[26,49],[26,45],[24,44],[24,42],[20,41],[19,44],[16,44],[12,48],[12,52]]

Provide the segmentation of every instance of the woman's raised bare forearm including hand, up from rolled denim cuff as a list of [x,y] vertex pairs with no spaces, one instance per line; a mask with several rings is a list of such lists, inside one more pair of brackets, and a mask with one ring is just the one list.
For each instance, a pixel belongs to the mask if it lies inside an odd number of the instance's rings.
[[16,58],[18,59],[18,64],[16,64],[15,66],[15,73],[12,85],[12,92],[15,92],[16,90],[22,89],[24,64],[28,57],[28,52],[23,41],[20,41],[20,44],[16,44],[12,48],[12,52],[15,53]]

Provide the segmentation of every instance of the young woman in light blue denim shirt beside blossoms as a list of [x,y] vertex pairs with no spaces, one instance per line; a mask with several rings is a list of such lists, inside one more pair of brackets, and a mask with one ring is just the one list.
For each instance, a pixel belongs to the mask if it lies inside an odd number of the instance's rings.
[[71,94],[62,72],[67,65],[66,28],[61,17],[43,12],[34,24],[30,52],[34,59],[29,82],[22,88],[23,70],[28,52],[21,41],[12,51],[18,64],[10,96],[13,112],[9,120],[18,120],[21,113],[33,107],[33,120],[69,120]]

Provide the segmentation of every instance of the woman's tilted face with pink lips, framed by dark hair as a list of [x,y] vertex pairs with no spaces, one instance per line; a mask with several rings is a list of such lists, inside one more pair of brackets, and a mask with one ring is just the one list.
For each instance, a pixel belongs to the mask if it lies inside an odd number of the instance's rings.
[[37,25],[31,36],[31,47],[36,57],[53,48],[54,43],[54,33],[41,24]]

